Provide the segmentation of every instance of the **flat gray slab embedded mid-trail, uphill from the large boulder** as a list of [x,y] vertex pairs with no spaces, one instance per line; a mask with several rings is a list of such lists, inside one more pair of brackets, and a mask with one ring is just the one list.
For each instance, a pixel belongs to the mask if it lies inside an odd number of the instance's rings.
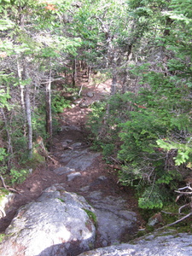
[[88,149],[66,150],[65,154],[61,154],[60,162],[65,164],[66,167],[84,172],[99,155],[100,153],[93,153]]

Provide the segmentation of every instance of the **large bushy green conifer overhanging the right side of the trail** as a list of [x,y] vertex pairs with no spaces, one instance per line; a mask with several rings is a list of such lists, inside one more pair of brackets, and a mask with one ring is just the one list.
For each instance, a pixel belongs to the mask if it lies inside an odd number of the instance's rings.
[[139,207],[153,209],[189,173],[191,102],[189,90],[161,73],[146,73],[141,82],[151,88],[112,96],[93,110],[90,126],[105,158],[115,154],[122,163],[119,181],[137,189]]

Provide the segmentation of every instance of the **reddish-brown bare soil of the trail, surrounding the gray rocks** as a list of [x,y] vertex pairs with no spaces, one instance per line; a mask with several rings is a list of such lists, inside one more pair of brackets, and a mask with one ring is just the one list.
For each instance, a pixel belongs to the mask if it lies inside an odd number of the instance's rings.
[[[81,96],[82,101],[89,105],[94,101],[101,100],[103,95],[108,95],[110,90],[110,81],[101,84],[88,84],[85,81]],[[79,88],[80,85],[79,84]],[[94,93],[93,97],[87,96],[87,92],[91,91]],[[88,113],[90,113],[90,108],[81,108],[80,104],[76,104],[74,108],[65,109],[60,115],[61,125],[75,125],[78,126],[80,131],[65,132],[62,131],[53,138],[53,148],[51,154],[59,154],[63,148],[61,146],[61,141],[66,139],[73,139],[75,142],[83,142],[84,145],[87,142],[88,131],[85,131],[84,124],[87,119]],[[134,197],[134,193],[131,189],[120,186],[118,183],[118,177],[113,169],[113,166],[106,164],[102,160],[102,156],[99,156],[94,164],[91,166],[89,172],[82,172],[82,176],[74,179],[71,182],[67,182],[67,174],[57,175],[53,172],[53,169],[61,166],[60,162],[54,165],[51,161],[47,165],[38,166],[38,168],[32,172],[32,174],[26,178],[26,181],[20,185],[17,185],[15,189],[20,191],[20,194],[15,194],[14,200],[9,203],[9,211],[6,212],[7,215],[0,219],[0,232],[3,233],[4,230],[9,226],[11,220],[14,218],[17,209],[25,205],[27,202],[36,200],[42,191],[51,186],[54,183],[64,183],[64,187],[69,192],[78,192],[80,195],[84,195],[80,189],[88,184],[91,184],[91,190],[100,189],[104,195],[117,195],[122,196],[127,201],[127,208],[138,213],[137,200]],[[100,176],[108,177],[102,183],[96,183],[96,178]],[[138,213],[139,217],[139,213]],[[143,219],[138,218],[138,224],[143,224]]]

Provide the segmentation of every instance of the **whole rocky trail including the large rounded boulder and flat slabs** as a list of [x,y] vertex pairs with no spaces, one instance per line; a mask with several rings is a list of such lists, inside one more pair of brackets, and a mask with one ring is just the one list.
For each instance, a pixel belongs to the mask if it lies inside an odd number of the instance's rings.
[[102,87],[95,89],[84,90],[86,106],[78,103],[61,114],[51,152],[57,164],[32,172],[9,200],[0,220],[1,232],[7,228],[9,235],[1,255],[78,255],[137,233],[141,218],[132,191],[119,186],[113,168],[87,141],[88,106],[103,96]]

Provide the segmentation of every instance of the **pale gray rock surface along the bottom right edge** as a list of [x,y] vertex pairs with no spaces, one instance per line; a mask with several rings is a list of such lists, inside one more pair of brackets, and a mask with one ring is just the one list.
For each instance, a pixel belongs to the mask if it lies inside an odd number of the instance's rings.
[[79,256],[189,256],[192,254],[191,241],[192,235],[189,234],[169,235],[166,232],[156,232],[135,241],[134,244],[98,248]]

